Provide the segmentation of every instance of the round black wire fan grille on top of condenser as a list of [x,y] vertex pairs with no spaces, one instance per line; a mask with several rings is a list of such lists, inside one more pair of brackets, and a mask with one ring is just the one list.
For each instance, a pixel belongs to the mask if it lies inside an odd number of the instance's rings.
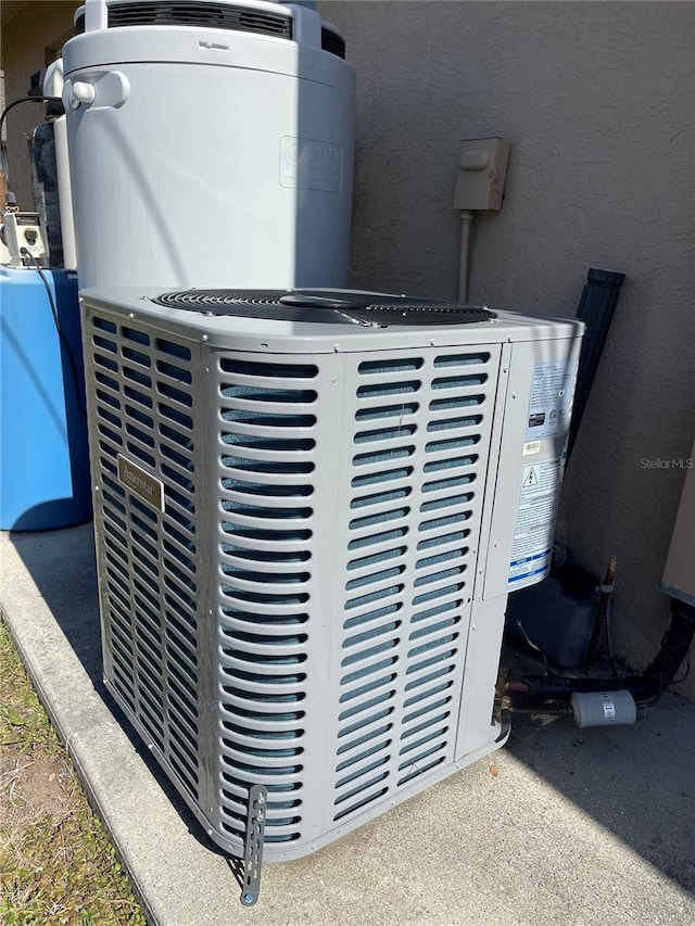
[[156,305],[198,312],[279,321],[324,325],[469,325],[489,321],[488,308],[437,300],[340,291],[181,290],[152,299]]

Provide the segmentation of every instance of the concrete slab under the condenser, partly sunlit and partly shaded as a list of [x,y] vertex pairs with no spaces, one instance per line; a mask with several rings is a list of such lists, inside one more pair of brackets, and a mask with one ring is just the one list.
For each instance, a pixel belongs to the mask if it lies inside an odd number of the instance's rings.
[[695,922],[695,705],[633,727],[516,721],[495,753],[311,858],[228,862],[101,682],[91,525],[0,537],[0,601],[152,926],[683,926]]

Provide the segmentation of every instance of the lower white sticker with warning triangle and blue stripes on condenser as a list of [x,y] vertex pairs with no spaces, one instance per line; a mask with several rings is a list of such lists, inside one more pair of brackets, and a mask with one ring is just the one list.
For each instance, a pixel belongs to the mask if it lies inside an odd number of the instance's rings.
[[551,566],[561,481],[559,458],[522,467],[509,563],[510,592],[538,582]]

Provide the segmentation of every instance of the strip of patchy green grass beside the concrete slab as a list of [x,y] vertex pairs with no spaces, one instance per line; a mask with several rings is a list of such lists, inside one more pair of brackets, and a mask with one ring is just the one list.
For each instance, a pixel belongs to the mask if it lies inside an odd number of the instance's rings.
[[147,926],[2,621],[0,924]]

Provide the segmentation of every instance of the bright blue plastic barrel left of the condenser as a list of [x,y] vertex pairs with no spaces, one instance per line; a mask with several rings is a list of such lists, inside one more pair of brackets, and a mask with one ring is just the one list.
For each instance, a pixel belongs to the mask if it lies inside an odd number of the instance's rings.
[[[91,517],[77,275],[0,267],[0,529]],[[71,354],[75,370],[71,364]]]

